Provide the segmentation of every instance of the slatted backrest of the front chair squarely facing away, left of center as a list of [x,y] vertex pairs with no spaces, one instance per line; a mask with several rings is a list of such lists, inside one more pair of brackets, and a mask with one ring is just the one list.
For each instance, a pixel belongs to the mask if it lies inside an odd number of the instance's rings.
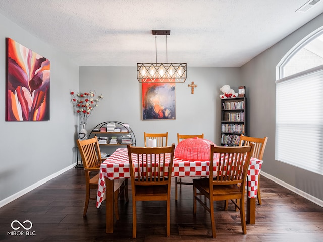
[[[171,176],[175,144],[164,147],[134,147],[127,146],[130,176],[134,185],[169,185]],[[169,191],[170,192],[170,191]]]

